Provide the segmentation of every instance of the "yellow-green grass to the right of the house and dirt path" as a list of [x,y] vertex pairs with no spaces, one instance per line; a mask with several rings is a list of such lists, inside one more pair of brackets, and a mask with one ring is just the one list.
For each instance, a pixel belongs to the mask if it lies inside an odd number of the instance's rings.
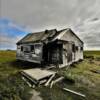
[[[85,55],[88,56],[88,52],[85,52]],[[90,57],[72,65],[68,71],[61,69],[59,73],[65,76],[66,80],[56,84],[52,89],[45,87],[38,88],[39,91],[41,90],[41,96],[44,100],[66,100],[66,98],[67,100],[84,100],[82,97],[63,91],[61,89],[63,87],[85,94],[86,100],[100,100],[100,74],[90,71],[100,70],[100,60],[96,59],[96,57],[100,57],[98,55],[100,51],[95,52],[93,51],[89,54],[89,56],[94,57],[92,63]]]

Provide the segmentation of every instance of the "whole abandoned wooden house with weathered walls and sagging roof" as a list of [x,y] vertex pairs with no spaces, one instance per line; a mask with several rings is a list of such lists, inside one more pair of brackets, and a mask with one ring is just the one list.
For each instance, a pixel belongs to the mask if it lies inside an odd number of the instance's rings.
[[18,60],[43,65],[66,65],[83,59],[83,41],[70,29],[29,33],[17,42]]

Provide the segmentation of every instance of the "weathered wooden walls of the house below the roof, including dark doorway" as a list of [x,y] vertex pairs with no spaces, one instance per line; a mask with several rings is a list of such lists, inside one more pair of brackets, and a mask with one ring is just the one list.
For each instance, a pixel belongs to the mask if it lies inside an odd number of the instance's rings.
[[[59,45],[59,42],[61,42],[61,45]],[[30,45],[35,45],[35,51],[31,51]],[[17,45],[17,59],[40,64],[42,61],[50,64],[59,62],[60,67],[83,59],[83,50],[81,49],[83,42],[69,29],[61,31],[60,34],[50,40],[50,43],[48,41],[45,44],[47,47],[43,45],[41,42]],[[27,47],[29,52],[22,47]],[[75,50],[73,50],[73,47],[75,47]]]

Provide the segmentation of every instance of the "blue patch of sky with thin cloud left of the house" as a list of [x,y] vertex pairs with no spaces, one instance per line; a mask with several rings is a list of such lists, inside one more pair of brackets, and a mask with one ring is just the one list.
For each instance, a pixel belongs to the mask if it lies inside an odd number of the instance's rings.
[[18,26],[8,19],[0,19],[0,49],[15,49],[16,42],[20,40],[28,29]]

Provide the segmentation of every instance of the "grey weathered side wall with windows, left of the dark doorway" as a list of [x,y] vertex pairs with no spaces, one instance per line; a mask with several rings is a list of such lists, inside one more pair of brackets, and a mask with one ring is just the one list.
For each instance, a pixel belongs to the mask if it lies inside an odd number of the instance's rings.
[[[36,48],[34,46],[35,51],[31,51],[32,45],[39,45],[39,48]],[[29,52],[25,52],[24,47],[29,48]],[[23,48],[23,50],[21,50]],[[37,53],[36,53],[37,52]],[[42,61],[42,44],[41,43],[29,43],[29,44],[20,44],[17,45],[17,59],[24,60],[24,61],[30,61],[35,63],[41,63]]]

